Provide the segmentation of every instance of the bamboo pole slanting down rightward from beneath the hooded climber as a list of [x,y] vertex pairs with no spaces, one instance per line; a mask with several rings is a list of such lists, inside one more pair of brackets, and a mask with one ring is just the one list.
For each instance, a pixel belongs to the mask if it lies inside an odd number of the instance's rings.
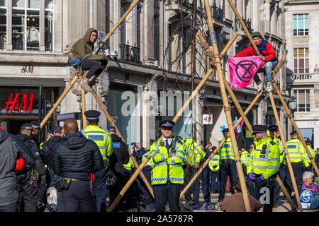
[[[111,126],[114,126],[116,128],[117,135],[122,139],[123,142],[125,142],[125,140],[124,140],[123,136],[121,135],[120,131],[118,131],[118,127],[114,123],[114,119],[110,116],[110,114],[108,114],[108,111],[104,107],[104,105],[101,102],[99,96],[96,94],[96,92],[94,90],[92,91],[92,94],[94,95],[96,101],[99,103],[102,111],[106,115],[106,118],[108,119],[108,122],[111,124]],[[130,148],[128,148],[128,154],[130,155],[130,158],[132,159],[132,161],[133,161],[133,163],[135,165],[135,168],[138,169],[138,167],[139,167],[138,162],[136,162],[135,157],[133,157],[132,153],[130,152]],[[150,183],[147,181],[147,179],[146,179],[145,175],[143,174],[143,172],[140,172],[140,177],[142,178],[143,182],[147,186],[147,189],[150,191],[150,194],[154,198],[154,192],[153,192],[152,186],[150,186]]]

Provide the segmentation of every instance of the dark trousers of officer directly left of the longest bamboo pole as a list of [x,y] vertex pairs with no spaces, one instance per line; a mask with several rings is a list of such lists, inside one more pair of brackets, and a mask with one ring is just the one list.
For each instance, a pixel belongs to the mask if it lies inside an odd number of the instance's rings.
[[234,194],[232,187],[238,180],[237,168],[235,161],[232,162],[220,162],[220,184],[219,184],[219,200],[223,200],[225,198],[227,177],[230,179],[230,191]]

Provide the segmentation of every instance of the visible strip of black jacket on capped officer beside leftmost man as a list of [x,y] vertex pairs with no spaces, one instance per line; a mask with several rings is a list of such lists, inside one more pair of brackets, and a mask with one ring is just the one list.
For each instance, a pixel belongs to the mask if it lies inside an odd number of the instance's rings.
[[39,176],[41,177],[42,175],[45,175],[46,170],[40,155],[40,148],[38,147],[37,143],[35,143],[35,141],[33,141],[33,139],[26,134],[18,134],[18,137],[21,138],[23,143],[25,143],[28,148],[32,150],[32,153],[35,157],[35,167],[37,168]]

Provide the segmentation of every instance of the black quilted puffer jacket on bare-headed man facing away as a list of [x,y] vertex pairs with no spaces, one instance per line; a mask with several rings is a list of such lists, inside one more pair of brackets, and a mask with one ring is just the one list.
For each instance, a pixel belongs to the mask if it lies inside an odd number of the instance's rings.
[[103,157],[94,141],[72,133],[53,148],[52,169],[57,176],[90,180],[91,172],[103,169]]

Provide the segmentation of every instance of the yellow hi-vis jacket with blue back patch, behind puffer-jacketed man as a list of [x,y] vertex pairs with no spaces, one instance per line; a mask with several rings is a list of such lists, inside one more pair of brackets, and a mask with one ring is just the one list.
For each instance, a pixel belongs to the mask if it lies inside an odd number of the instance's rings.
[[103,160],[107,160],[113,153],[113,145],[111,134],[103,130],[99,126],[86,126],[82,130],[83,135],[91,141],[94,141],[99,146]]

